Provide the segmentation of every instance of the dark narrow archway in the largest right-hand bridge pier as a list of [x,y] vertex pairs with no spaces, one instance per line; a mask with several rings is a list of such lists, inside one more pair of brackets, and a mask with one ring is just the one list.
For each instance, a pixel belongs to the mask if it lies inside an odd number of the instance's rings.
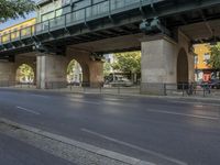
[[177,77],[177,84],[188,84],[189,79],[188,57],[184,48],[182,48],[178,53],[176,77]]

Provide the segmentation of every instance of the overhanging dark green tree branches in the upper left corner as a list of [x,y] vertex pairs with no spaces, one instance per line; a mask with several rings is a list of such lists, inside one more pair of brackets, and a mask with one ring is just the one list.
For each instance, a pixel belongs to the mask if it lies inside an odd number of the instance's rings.
[[35,2],[32,0],[0,0],[0,22],[9,19],[25,18],[25,14],[35,9]]

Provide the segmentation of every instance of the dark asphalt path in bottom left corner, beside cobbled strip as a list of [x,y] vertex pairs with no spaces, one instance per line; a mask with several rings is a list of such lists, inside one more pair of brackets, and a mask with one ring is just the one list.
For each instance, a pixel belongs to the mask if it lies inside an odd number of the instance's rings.
[[42,150],[0,133],[1,165],[73,165]]

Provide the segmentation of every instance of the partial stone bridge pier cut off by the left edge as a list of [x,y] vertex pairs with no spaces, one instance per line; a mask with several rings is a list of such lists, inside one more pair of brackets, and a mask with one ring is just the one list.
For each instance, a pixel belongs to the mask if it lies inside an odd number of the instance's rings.
[[7,87],[15,85],[15,66],[11,62],[0,61],[0,86]]

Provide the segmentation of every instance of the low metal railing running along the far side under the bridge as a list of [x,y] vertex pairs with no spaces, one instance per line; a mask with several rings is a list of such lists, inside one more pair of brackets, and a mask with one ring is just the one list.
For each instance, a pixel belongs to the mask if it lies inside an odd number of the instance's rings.
[[[0,81],[3,88],[37,89],[32,82]],[[38,89],[40,90],[40,89]],[[141,86],[103,85],[103,84],[67,84],[64,81],[48,81],[45,90],[84,92],[84,94],[112,94],[112,95],[160,95],[179,97],[220,97],[220,85],[210,84],[148,84]]]

